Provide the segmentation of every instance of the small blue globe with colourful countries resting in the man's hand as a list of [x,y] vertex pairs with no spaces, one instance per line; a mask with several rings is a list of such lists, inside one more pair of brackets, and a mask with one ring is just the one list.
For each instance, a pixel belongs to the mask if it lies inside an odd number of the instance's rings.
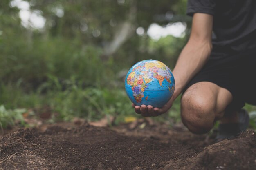
[[175,81],[170,68],[157,60],[143,60],[128,71],[126,94],[135,105],[161,108],[172,97]]

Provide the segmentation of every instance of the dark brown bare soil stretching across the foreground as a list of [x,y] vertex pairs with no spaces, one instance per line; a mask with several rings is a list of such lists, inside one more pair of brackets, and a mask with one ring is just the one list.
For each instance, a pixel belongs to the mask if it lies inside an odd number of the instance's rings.
[[22,128],[0,139],[4,170],[255,170],[256,135],[213,144],[182,126],[142,122]]

